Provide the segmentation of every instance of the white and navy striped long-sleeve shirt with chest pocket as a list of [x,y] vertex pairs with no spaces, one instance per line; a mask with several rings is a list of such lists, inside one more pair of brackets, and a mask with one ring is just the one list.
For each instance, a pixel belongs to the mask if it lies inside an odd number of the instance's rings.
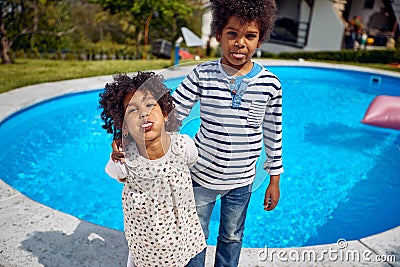
[[197,66],[173,94],[179,119],[200,101],[200,129],[194,140],[199,159],[192,179],[211,189],[233,189],[253,182],[264,140],[270,175],[282,167],[282,91],[278,78],[262,68],[247,83],[239,108],[232,108],[234,77],[221,61]]

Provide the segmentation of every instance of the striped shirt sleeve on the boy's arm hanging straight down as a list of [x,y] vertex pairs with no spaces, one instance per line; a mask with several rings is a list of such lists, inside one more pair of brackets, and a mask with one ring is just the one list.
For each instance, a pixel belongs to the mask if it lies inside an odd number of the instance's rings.
[[267,160],[264,169],[270,175],[283,172],[282,165],[282,88],[275,81],[274,93],[268,103],[263,122],[264,146]]

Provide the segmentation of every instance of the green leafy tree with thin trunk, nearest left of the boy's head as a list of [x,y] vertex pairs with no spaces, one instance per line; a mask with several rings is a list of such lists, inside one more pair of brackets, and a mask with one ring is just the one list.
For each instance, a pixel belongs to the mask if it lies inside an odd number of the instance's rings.
[[[144,35],[144,51],[142,57],[146,57],[147,45],[149,43],[149,28],[152,20],[157,19],[158,25],[168,25],[171,29],[170,36],[175,37],[177,33],[176,21],[178,17],[189,15],[193,6],[189,0],[92,0],[99,3],[103,9],[109,10],[112,14],[129,12],[132,23],[136,25],[137,51],[140,51],[140,42]],[[137,53],[139,54],[139,53]]]

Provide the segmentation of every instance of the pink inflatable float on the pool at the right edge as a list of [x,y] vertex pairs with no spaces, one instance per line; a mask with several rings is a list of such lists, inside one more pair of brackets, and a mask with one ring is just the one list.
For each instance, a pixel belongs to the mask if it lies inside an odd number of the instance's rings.
[[400,96],[380,95],[375,97],[361,122],[400,130]]

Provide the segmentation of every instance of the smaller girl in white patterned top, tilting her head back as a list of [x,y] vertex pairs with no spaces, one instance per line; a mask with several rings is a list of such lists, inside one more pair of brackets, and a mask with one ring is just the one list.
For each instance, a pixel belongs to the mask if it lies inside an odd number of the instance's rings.
[[117,75],[100,94],[103,128],[122,138],[124,163],[106,172],[124,182],[122,203],[128,266],[184,266],[205,247],[189,167],[193,140],[173,133],[180,122],[161,76]]

